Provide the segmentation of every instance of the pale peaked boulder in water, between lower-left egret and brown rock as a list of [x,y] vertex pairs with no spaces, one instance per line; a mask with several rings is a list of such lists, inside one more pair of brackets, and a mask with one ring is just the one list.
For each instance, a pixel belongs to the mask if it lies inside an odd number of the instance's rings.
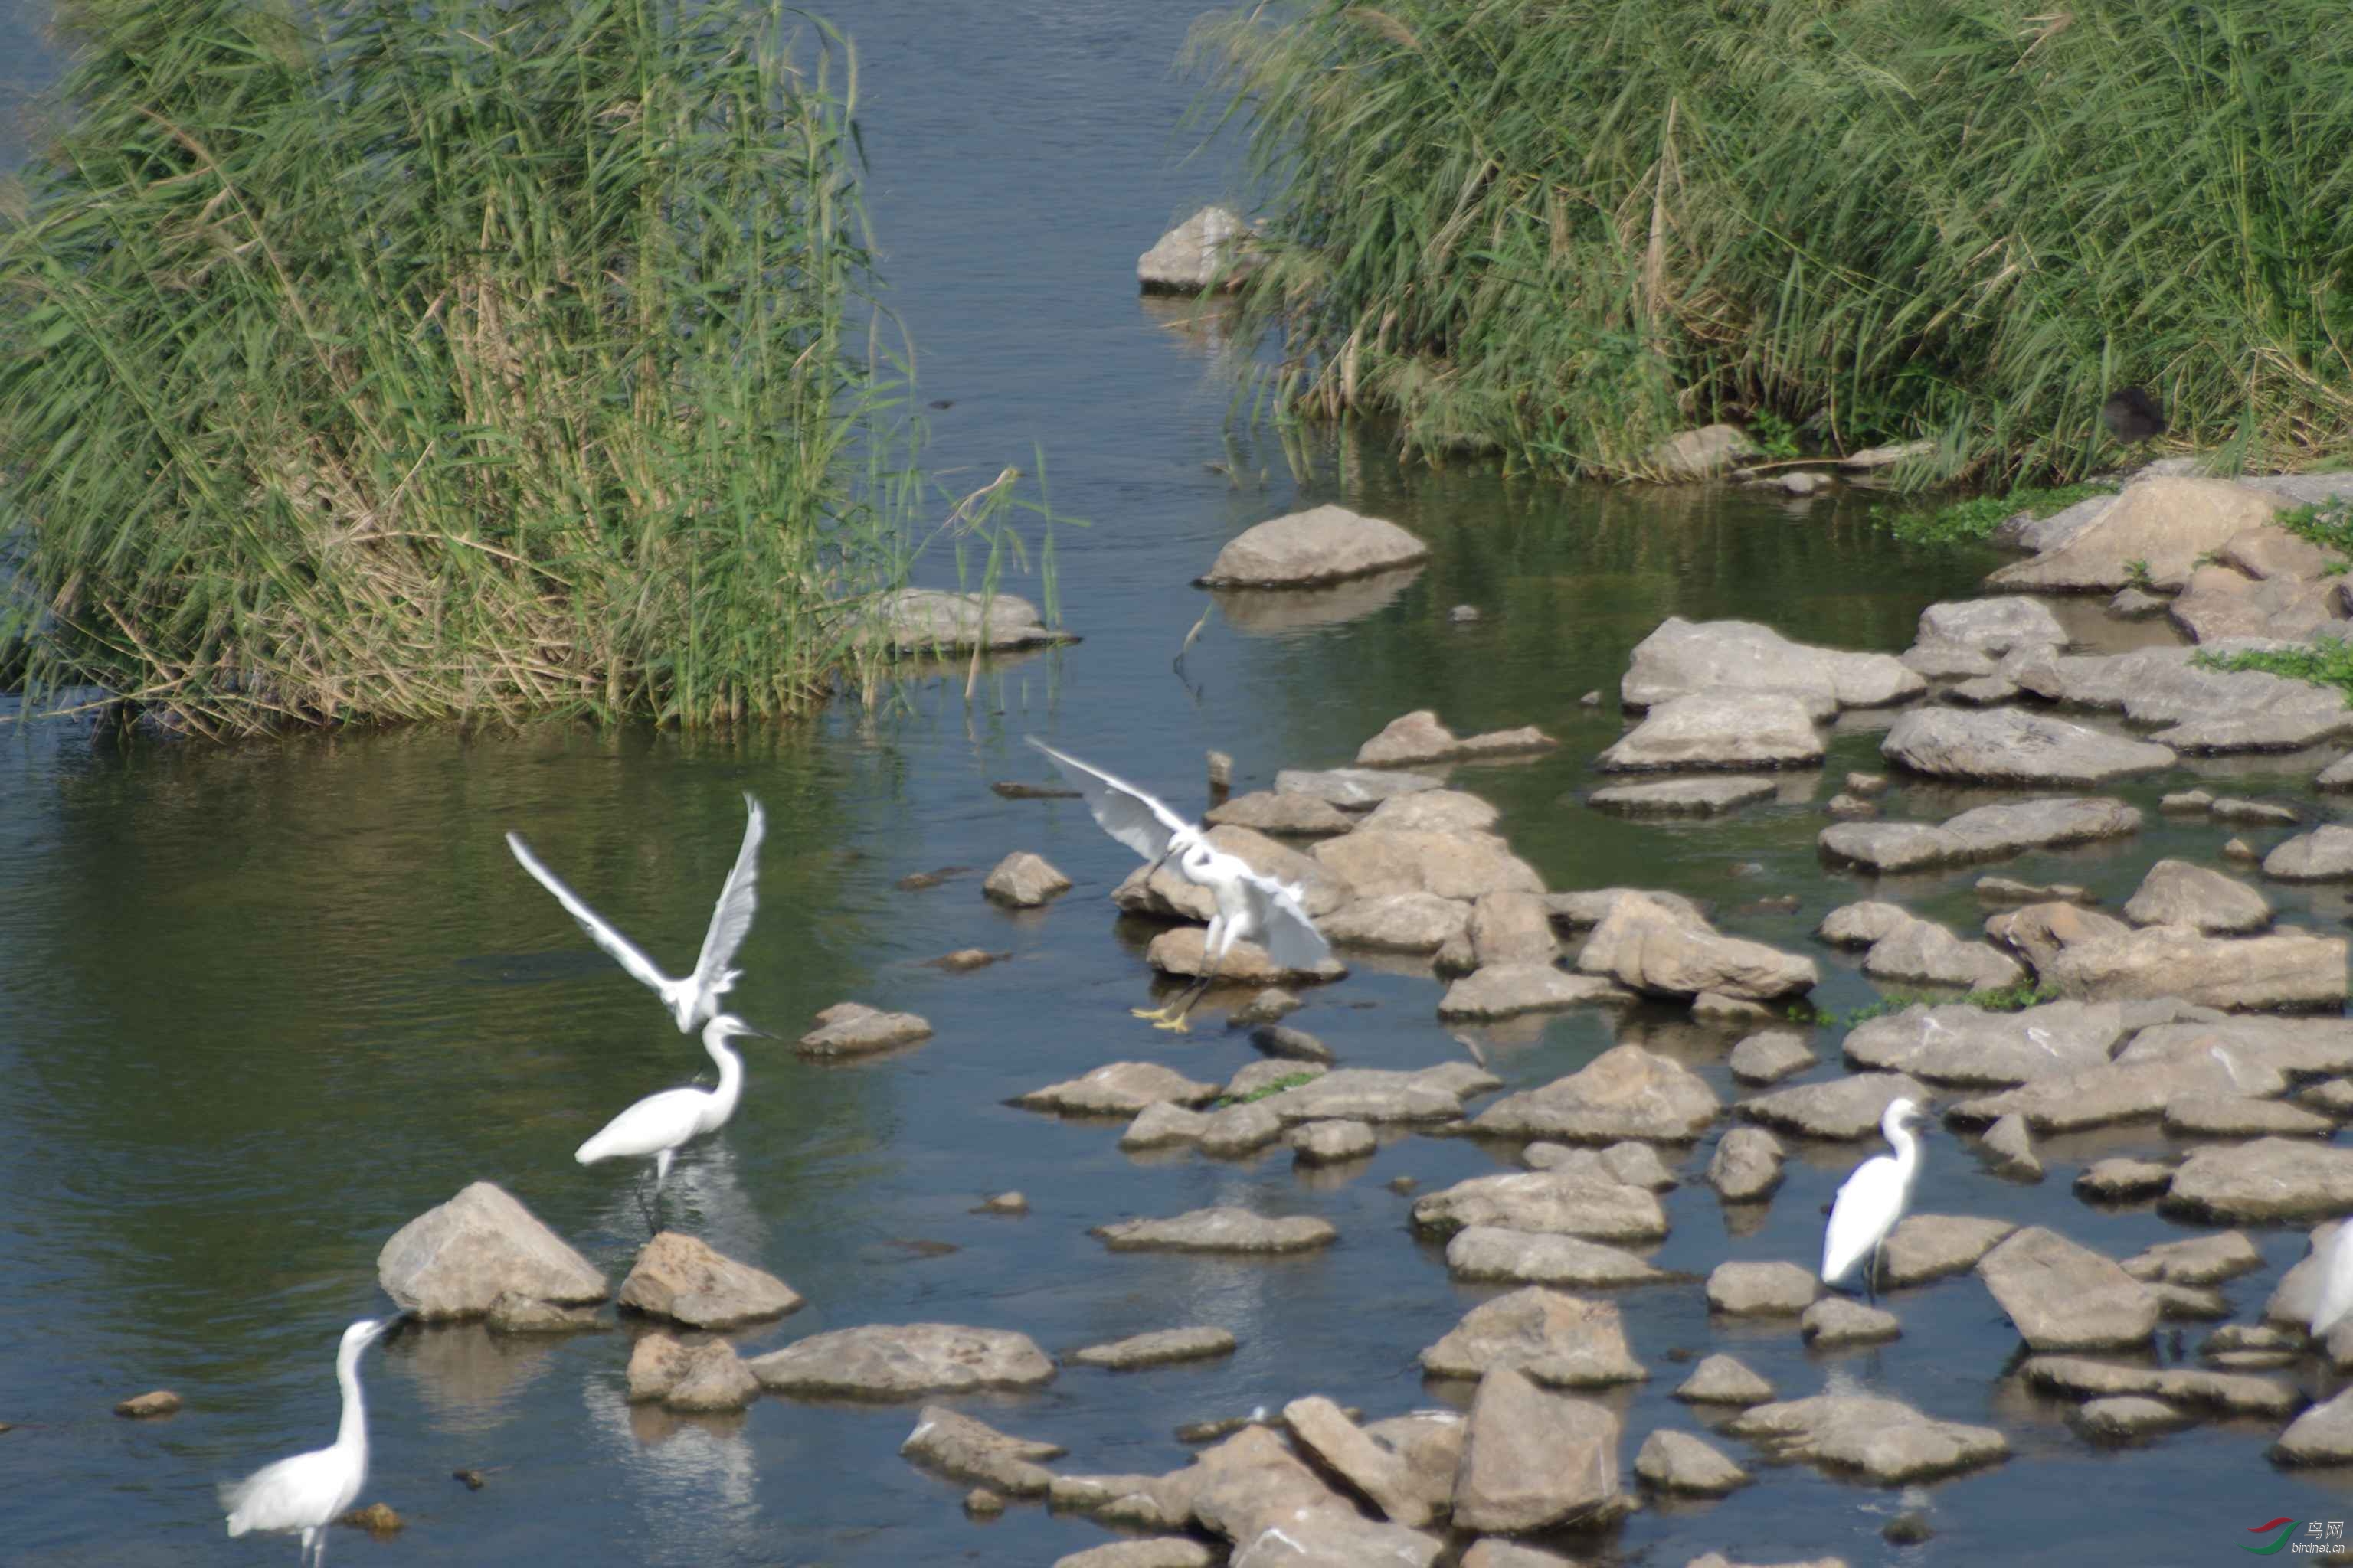
[[605,1300],[605,1276],[513,1194],[473,1182],[393,1232],[376,1284],[426,1321],[482,1316],[501,1295],[581,1305]]

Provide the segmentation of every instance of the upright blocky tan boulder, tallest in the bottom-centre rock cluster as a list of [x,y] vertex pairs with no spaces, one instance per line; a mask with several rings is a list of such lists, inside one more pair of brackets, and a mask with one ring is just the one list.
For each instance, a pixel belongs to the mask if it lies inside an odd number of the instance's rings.
[[1541,1389],[1508,1366],[1480,1380],[1454,1479],[1457,1528],[1518,1535],[1624,1509],[1619,1418],[1607,1406]]

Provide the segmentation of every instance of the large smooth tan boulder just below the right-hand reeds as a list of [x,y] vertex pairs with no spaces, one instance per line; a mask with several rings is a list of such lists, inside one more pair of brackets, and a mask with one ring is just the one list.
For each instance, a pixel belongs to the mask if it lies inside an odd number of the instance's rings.
[[2155,588],[2179,590],[2202,555],[2271,522],[2285,505],[2280,496],[2231,480],[2141,480],[2064,545],[2002,567],[1986,585],[2115,592],[2146,574]]

